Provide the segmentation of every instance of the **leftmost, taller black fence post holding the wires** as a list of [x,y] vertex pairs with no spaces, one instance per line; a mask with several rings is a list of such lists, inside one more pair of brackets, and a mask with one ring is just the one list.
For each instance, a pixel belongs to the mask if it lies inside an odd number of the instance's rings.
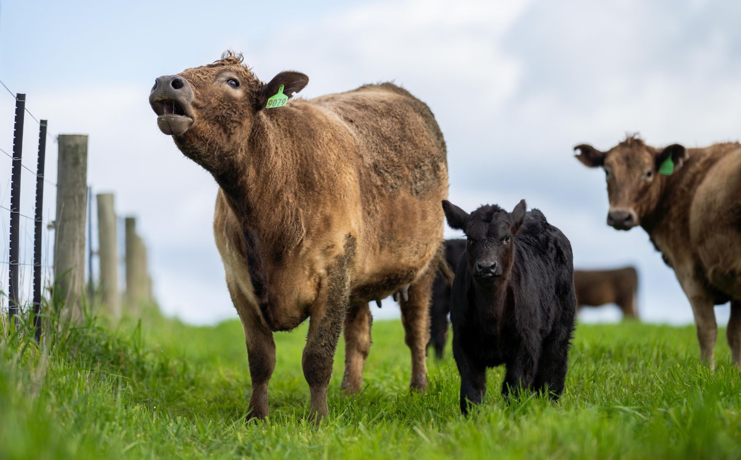
[[13,169],[10,173],[10,251],[8,280],[8,311],[10,320],[19,312],[19,236],[21,219],[21,159],[23,157],[23,116],[26,109],[26,95],[16,95],[16,121],[13,127]]

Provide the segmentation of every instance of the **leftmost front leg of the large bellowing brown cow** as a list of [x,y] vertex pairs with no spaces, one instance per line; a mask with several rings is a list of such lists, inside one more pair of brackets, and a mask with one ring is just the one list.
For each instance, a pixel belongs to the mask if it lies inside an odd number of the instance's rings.
[[247,342],[247,361],[250,364],[252,391],[247,420],[265,419],[268,416],[268,381],[276,367],[276,344],[273,331],[256,313],[256,307],[249,304],[247,297],[234,282],[227,280],[227,287],[234,307],[242,319]]

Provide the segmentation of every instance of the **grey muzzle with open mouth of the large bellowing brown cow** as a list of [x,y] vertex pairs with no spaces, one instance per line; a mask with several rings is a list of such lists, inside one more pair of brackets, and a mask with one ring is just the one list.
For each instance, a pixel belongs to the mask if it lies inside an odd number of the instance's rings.
[[162,133],[182,136],[193,125],[193,89],[179,75],[165,75],[154,81],[149,104],[157,114]]

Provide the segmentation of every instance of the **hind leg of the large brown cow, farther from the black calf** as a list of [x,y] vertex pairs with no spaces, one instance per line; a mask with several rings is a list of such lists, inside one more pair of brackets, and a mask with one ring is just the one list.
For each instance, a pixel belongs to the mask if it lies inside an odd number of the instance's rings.
[[363,367],[371,350],[371,308],[365,302],[350,304],[345,316],[345,376],[342,390],[357,393],[362,388]]

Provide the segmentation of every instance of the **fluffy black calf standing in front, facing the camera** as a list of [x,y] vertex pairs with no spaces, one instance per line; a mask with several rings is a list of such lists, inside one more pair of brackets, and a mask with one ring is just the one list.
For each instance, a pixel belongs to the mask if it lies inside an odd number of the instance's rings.
[[[539,210],[485,205],[470,215],[442,201],[448,225],[468,237],[451,298],[461,412],[486,393],[485,370],[505,364],[502,395],[563,392],[576,296],[571,244]],[[467,402],[468,401],[468,402]]]

